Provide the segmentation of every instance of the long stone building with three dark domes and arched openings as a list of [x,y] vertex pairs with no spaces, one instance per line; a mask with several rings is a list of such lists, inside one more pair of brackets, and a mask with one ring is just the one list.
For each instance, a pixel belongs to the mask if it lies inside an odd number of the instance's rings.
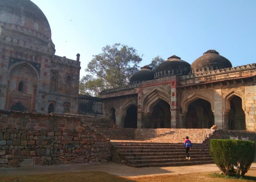
[[256,65],[232,67],[215,50],[192,65],[171,56],[129,86],[102,92],[104,115],[130,128],[256,129]]

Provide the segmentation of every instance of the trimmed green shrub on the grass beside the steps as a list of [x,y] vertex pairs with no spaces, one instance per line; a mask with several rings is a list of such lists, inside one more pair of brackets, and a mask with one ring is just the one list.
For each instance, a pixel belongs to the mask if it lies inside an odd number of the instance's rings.
[[[254,160],[255,142],[212,139],[210,154],[224,175],[243,177]],[[234,168],[236,162],[239,163],[237,169]]]

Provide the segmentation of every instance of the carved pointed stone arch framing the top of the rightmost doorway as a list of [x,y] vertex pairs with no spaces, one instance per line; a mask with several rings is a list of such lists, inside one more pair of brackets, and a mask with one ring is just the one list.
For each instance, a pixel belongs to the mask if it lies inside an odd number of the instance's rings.
[[223,111],[230,110],[230,98],[233,96],[239,96],[242,100],[242,109],[245,111],[245,94],[242,91],[236,90],[235,88],[230,89],[222,97],[222,109]]

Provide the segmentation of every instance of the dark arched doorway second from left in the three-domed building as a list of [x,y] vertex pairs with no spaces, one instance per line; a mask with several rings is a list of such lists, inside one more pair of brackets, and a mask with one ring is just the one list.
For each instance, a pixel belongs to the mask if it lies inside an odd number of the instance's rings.
[[138,108],[135,105],[130,106],[126,111],[124,118],[125,128],[137,128],[137,111]]

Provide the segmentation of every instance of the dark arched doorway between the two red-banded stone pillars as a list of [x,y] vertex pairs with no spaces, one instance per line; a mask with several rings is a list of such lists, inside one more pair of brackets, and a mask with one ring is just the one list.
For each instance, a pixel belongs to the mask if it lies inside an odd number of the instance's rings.
[[160,100],[153,107],[147,128],[171,128],[171,108],[164,100]]

